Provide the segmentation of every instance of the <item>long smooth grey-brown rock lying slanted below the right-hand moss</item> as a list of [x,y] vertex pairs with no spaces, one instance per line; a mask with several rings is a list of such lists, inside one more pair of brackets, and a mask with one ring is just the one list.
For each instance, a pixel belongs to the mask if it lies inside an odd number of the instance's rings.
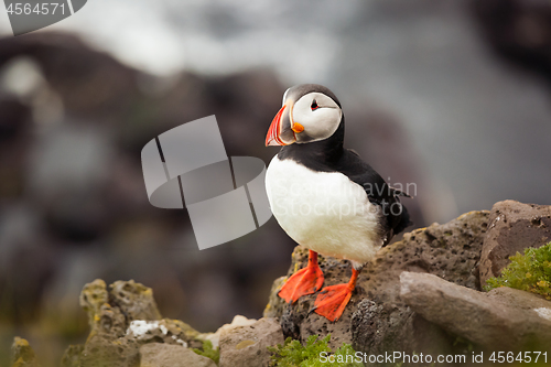
[[551,302],[503,287],[483,293],[433,274],[402,272],[400,295],[424,319],[493,350],[551,347]]

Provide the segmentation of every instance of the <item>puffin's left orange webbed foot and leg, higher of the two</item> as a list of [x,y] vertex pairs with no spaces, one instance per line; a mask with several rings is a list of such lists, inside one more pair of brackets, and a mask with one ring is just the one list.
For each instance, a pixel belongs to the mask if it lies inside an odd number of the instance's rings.
[[279,291],[285,302],[295,302],[301,295],[312,294],[323,285],[323,272],[317,265],[317,252],[310,250],[309,265],[296,271]]

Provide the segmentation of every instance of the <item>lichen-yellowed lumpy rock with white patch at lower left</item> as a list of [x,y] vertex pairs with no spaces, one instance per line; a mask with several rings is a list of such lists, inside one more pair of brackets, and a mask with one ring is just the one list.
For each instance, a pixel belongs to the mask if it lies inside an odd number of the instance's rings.
[[148,343],[203,347],[203,336],[186,323],[161,320],[152,290],[133,280],[117,281],[109,290],[95,280],[84,287],[80,305],[88,313],[90,335],[85,345],[65,352],[63,367],[136,367],[140,346]]

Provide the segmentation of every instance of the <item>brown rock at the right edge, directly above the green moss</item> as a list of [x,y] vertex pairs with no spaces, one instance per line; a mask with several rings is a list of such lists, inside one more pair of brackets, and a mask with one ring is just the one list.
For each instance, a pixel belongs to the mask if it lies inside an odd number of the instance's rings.
[[551,241],[551,206],[499,202],[489,215],[488,234],[480,257],[480,283],[499,277],[509,257],[523,253],[527,247],[541,247]]

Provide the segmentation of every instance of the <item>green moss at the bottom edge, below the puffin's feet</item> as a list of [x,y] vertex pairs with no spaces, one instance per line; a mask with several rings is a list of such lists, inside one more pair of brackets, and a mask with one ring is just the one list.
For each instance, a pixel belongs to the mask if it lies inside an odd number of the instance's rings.
[[[306,345],[303,346],[299,341],[287,338],[283,345],[268,347],[274,355],[271,357],[272,367],[363,367],[361,363],[350,361],[356,353],[352,345],[344,343],[335,353],[328,347],[327,343],[331,334],[321,341],[317,335],[311,335]],[[322,358],[323,356],[323,358]],[[331,356],[331,357],[329,357]],[[346,361],[348,356],[348,361]],[[325,358],[325,359],[324,359]],[[331,360],[331,361],[329,361]],[[335,360],[335,361],[333,361]]]

